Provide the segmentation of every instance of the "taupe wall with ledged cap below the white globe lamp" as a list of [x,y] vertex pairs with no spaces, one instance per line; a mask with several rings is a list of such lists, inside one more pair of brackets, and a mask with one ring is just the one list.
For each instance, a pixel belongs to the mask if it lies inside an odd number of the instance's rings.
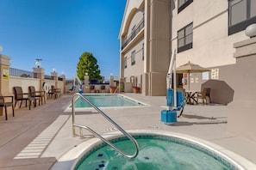
[[228,131],[256,141],[256,37],[234,44],[234,101],[228,105]]

